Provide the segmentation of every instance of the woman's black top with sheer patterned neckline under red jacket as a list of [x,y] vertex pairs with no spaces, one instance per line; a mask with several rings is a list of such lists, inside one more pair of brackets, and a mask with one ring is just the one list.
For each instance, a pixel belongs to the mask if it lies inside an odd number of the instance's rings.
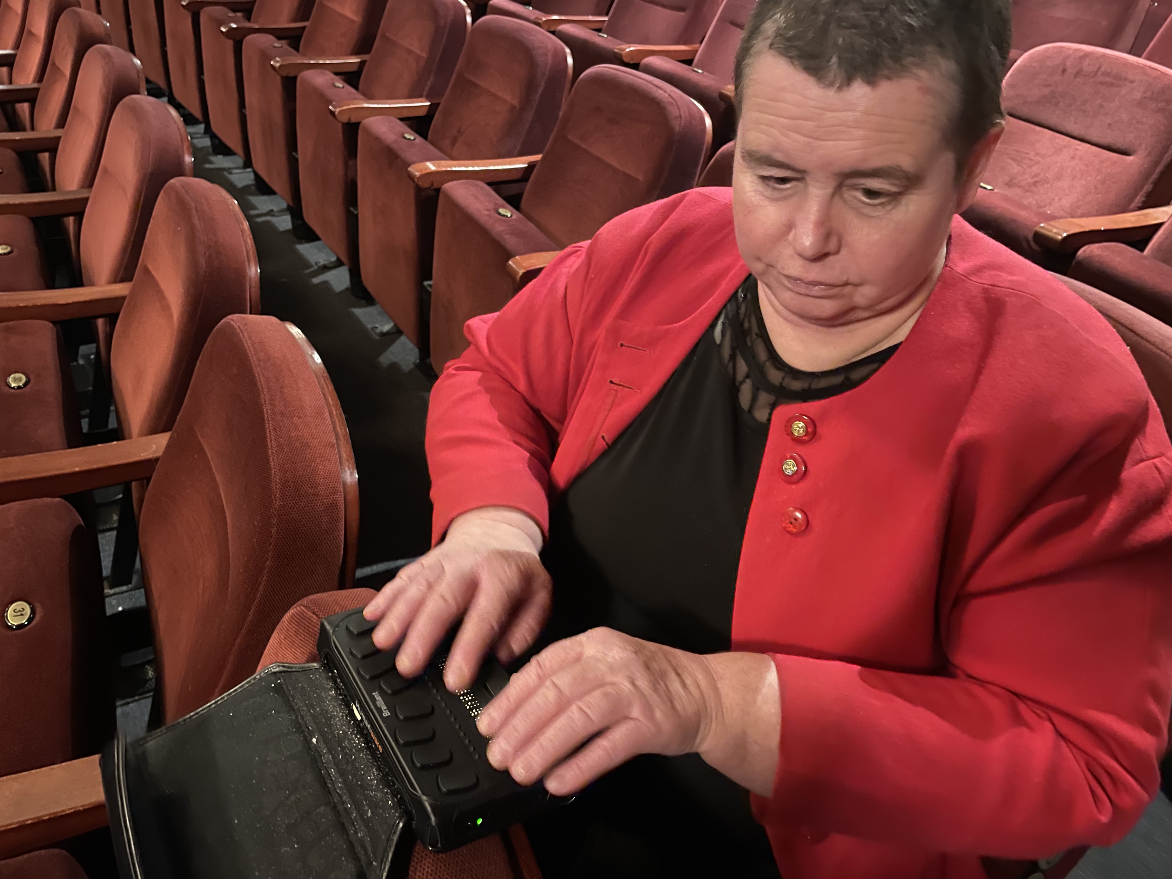
[[[804,373],[765,333],[756,279],[721,309],[659,394],[550,511],[553,616],[543,640],[609,626],[728,650],[749,505],[779,403],[858,387],[895,346]],[[531,825],[543,872],[615,879],[777,879],[748,792],[696,755],[636,757]]]

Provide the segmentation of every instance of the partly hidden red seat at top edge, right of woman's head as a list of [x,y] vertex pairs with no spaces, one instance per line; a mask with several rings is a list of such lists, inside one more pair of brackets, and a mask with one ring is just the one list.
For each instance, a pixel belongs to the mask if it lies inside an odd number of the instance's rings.
[[1131,52],[1151,0],[1014,0],[1009,63],[1050,42]]

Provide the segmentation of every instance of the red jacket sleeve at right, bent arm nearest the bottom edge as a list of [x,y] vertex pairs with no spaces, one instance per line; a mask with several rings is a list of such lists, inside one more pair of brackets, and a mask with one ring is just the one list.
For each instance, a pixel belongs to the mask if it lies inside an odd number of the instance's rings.
[[942,674],[774,656],[766,827],[1027,859],[1131,829],[1168,723],[1172,463],[1154,403],[1126,417],[941,595]]

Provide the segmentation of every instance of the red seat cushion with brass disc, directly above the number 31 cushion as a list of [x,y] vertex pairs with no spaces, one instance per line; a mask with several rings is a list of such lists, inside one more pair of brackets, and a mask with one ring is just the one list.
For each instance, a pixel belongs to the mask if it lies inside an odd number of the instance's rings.
[[[60,331],[43,320],[0,323],[0,457],[75,445],[81,423]],[[9,376],[26,376],[21,388]]]

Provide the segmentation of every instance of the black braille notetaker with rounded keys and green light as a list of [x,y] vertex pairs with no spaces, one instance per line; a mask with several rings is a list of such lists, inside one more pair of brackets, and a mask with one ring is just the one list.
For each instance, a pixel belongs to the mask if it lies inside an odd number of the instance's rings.
[[374,646],[374,626],[361,608],[327,616],[318,653],[353,700],[350,710],[398,784],[423,845],[450,851],[570,802],[550,796],[540,783],[523,788],[485,757],[489,740],[476,729],[476,718],[509,683],[496,659],[485,662],[469,689],[450,693],[443,657],[418,677],[404,679],[395,670],[395,653]]

